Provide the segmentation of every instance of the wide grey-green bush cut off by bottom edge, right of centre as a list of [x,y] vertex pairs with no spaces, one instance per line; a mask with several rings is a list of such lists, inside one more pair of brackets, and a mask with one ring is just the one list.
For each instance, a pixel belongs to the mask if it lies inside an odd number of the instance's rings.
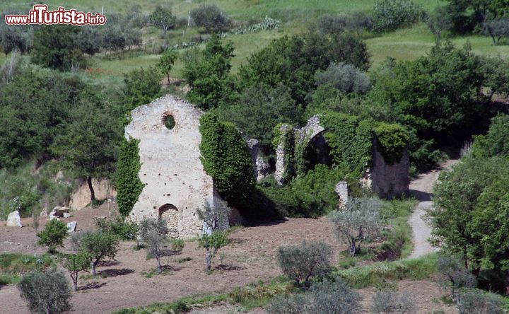
[[359,304],[361,296],[351,290],[341,279],[324,281],[312,284],[306,293],[295,296],[278,297],[267,307],[268,313],[286,314],[350,314],[361,310]]

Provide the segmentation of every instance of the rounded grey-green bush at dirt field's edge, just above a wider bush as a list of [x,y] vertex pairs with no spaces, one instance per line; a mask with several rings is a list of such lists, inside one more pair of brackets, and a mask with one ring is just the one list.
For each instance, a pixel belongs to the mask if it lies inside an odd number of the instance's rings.
[[288,278],[309,288],[312,277],[322,276],[330,270],[332,248],[324,242],[306,242],[280,246],[277,252],[279,267]]

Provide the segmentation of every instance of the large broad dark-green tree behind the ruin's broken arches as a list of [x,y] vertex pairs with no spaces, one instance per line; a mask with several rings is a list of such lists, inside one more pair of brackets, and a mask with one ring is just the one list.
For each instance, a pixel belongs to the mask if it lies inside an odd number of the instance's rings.
[[365,42],[350,33],[310,32],[281,37],[252,54],[240,67],[240,86],[262,83],[274,88],[282,83],[290,88],[292,98],[303,104],[315,88],[315,72],[327,69],[332,62],[367,70],[370,57]]

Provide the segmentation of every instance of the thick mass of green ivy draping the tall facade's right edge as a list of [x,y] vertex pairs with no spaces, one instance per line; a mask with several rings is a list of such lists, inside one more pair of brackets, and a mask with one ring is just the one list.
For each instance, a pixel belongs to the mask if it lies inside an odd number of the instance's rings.
[[208,113],[200,118],[201,163],[214,187],[230,205],[243,204],[254,190],[253,163],[242,134],[234,124]]

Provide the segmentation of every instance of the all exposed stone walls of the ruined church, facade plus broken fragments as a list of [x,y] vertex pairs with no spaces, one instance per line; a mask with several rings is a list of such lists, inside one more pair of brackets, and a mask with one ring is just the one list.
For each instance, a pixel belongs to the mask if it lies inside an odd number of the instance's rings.
[[[172,95],[131,111],[131,122],[125,128],[125,136],[139,140],[139,179],[144,188],[129,219],[163,218],[168,221],[173,238],[192,238],[204,231],[204,221],[199,218],[197,209],[205,204],[214,207],[224,201],[214,188],[213,178],[205,172],[201,163],[201,115],[204,112],[197,107]],[[312,148],[314,154],[308,160],[310,165],[331,164],[330,148],[324,138],[327,129],[320,124],[320,115],[312,117],[300,129],[282,124],[281,132],[292,134],[296,144]],[[259,181],[274,174],[279,185],[286,183],[283,177],[289,156],[282,139],[276,148],[275,169],[271,169],[260,153],[256,139],[247,139],[247,147],[252,155],[254,178]],[[361,183],[380,197],[390,198],[408,192],[408,154],[405,151],[401,160],[387,163],[377,149],[376,139],[373,139],[370,167]],[[348,202],[349,185],[346,182],[338,182],[335,192],[339,204]],[[237,221],[242,219],[235,209],[230,215],[230,223],[234,218]],[[228,221],[224,225],[228,226]]]

